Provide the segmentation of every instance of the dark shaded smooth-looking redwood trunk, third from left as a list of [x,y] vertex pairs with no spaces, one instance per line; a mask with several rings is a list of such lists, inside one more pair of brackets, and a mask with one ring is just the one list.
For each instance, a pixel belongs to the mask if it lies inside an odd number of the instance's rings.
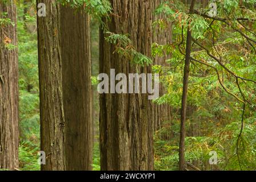
[[61,7],[67,170],[91,170],[93,149],[90,17]]

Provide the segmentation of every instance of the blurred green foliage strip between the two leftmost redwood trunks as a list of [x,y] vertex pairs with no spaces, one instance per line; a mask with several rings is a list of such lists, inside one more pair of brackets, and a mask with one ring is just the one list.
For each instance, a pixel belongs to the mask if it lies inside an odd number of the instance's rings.
[[19,2],[19,167],[39,170],[40,144],[39,82],[35,1]]

